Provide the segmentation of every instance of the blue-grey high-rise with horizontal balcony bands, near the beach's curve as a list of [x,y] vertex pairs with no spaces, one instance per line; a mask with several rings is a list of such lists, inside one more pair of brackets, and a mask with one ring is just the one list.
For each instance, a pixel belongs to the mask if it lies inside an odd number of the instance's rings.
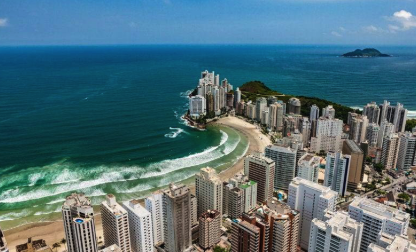
[[266,157],[274,161],[274,189],[287,191],[289,183],[295,176],[296,149],[269,145],[264,153]]

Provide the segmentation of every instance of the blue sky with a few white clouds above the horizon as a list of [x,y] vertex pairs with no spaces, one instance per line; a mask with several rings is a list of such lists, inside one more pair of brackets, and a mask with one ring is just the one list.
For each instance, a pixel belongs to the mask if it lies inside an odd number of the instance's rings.
[[0,0],[0,44],[416,45],[416,0]]

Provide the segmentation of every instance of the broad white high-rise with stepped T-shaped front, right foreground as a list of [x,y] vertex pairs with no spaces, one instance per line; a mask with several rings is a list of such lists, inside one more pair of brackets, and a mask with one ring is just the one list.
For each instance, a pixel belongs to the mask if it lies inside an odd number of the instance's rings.
[[289,184],[288,205],[301,213],[298,244],[308,250],[311,222],[323,220],[326,211],[335,212],[338,193],[331,188],[295,177]]

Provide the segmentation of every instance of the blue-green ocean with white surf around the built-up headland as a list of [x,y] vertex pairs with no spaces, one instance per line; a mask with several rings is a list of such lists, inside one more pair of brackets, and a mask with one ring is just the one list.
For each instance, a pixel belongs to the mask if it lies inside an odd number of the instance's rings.
[[416,48],[378,47],[395,56],[388,58],[338,57],[356,48],[0,47],[0,225],[60,218],[74,191],[95,205],[108,193],[141,198],[241,158],[248,140],[238,132],[199,131],[181,119],[204,70],[234,89],[260,80],[351,107],[388,99],[416,116]]

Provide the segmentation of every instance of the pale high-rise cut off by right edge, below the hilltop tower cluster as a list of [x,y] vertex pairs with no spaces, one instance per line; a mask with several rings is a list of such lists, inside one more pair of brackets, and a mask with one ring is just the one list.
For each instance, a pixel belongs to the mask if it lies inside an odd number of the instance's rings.
[[397,168],[407,171],[414,164],[416,151],[416,136],[410,132],[399,134],[399,153],[397,156]]

